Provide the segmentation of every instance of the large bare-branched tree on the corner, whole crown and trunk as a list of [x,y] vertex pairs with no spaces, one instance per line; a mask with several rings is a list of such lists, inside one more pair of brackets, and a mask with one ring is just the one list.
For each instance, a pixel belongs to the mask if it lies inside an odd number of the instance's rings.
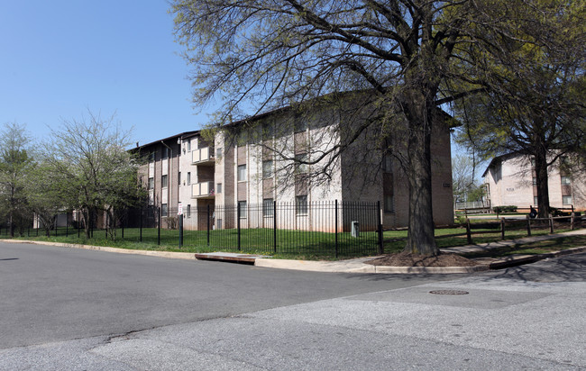
[[[369,119],[345,125],[339,142],[306,162],[329,161],[362,133],[376,133],[373,137],[378,141],[370,148],[392,153],[407,173],[406,249],[422,254],[439,252],[430,156],[432,129],[441,121],[437,107],[482,90],[482,86],[467,88],[468,77],[482,68],[478,63],[462,63],[468,45],[474,43],[490,53],[495,41],[508,41],[523,9],[539,6],[520,0],[507,4],[174,0],[171,4],[177,39],[194,68],[194,102],[204,104],[217,95],[223,99],[218,125],[246,119],[246,110],[261,113],[286,104],[300,106],[317,96],[333,99],[347,91],[370,92],[356,107],[368,111]],[[391,127],[404,127],[403,137]],[[407,150],[393,151],[396,144]]]

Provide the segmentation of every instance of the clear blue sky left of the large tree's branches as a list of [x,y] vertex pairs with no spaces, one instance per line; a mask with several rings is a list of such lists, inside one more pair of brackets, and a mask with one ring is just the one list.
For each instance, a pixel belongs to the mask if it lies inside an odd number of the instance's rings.
[[[0,3],[0,124],[37,138],[87,109],[145,144],[200,129],[165,0]],[[209,109],[208,109],[209,110]],[[204,110],[205,111],[205,110]]]

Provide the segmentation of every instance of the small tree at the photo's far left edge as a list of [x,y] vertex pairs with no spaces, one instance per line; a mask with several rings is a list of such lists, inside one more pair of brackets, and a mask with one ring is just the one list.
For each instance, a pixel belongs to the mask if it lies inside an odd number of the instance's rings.
[[29,220],[24,191],[33,163],[29,144],[24,125],[5,123],[0,131],[0,207],[7,215],[11,237],[16,227],[22,234]]

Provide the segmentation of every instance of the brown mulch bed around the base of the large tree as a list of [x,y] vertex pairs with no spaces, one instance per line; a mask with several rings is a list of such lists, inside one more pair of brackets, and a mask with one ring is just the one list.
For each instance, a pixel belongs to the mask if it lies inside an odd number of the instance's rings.
[[413,255],[407,251],[385,255],[381,258],[365,261],[365,263],[373,266],[387,267],[474,267],[479,264],[474,260],[463,258],[453,253],[442,253],[435,257],[430,257]]

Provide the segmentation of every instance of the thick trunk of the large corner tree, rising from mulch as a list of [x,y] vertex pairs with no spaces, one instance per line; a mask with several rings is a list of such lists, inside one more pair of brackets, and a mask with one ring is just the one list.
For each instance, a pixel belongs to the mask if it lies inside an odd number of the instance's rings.
[[409,221],[406,249],[413,254],[437,255],[439,249],[435,245],[431,182],[433,104],[426,102],[426,95],[411,89],[407,94],[404,107],[409,129],[407,143]]

